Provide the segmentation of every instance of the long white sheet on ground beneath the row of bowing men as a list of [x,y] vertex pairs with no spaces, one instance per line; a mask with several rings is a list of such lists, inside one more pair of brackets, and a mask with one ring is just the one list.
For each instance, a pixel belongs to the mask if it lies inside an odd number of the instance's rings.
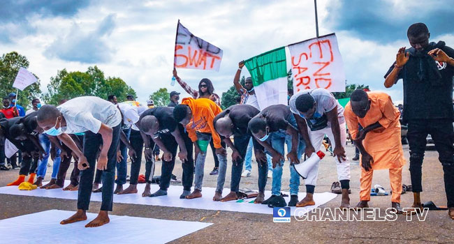
[[[65,185],[68,185],[70,181],[66,181]],[[45,183],[43,183],[45,184]],[[126,185],[124,185],[126,187]],[[145,188],[145,184],[138,184],[138,193],[137,194],[127,194],[127,195],[114,195],[114,202],[120,204],[142,204],[142,205],[152,205],[152,206],[168,206],[168,207],[177,207],[177,208],[195,208],[195,209],[205,209],[205,210],[221,210],[221,211],[234,211],[242,213],[263,213],[263,214],[272,214],[272,208],[268,208],[264,204],[248,204],[248,203],[237,203],[236,201],[213,201],[215,188],[203,187],[202,195],[203,197],[196,199],[180,199],[180,195],[183,192],[183,187],[181,185],[170,185],[170,188],[167,191],[166,196],[161,197],[142,197],[142,192]],[[152,185],[151,192],[159,190],[159,185]],[[223,195],[226,196],[230,192],[230,189],[224,188]],[[287,193],[288,192],[284,192]],[[52,197],[60,199],[78,199],[78,192],[69,192],[61,189],[36,189],[36,190],[19,190],[17,186],[5,186],[0,188],[0,194],[9,194],[9,195],[26,195],[34,197]],[[265,191],[265,199],[271,196],[270,191]],[[305,192],[298,194],[298,199],[303,199],[306,196]],[[309,211],[312,208],[317,208],[318,206],[327,203],[334,199],[337,195],[331,192],[315,193],[314,194],[314,206],[305,206],[304,208]],[[290,201],[290,197],[284,197],[286,202]],[[254,198],[247,199],[248,201],[254,200]],[[91,193],[91,201],[101,201],[101,193]],[[295,207],[291,207],[291,215],[295,215]]]

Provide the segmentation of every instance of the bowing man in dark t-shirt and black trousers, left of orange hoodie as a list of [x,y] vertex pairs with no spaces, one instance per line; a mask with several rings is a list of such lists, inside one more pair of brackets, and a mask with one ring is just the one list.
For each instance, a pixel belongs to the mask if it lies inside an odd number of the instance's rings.
[[145,179],[147,185],[142,193],[143,197],[159,197],[167,195],[170,185],[177,148],[180,146],[178,157],[183,167],[183,193],[180,199],[191,194],[194,162],[192,158],[192,142],[183,125],[173,119],[173,107],[155,107],[147,109],[140,115],[140,134],[145,142],[145,150],[152,151],[156,144],[164,152],[161,165],[161,180],[159,190],[151,194],[150,184],[154,174],[154,160],[147,160]]

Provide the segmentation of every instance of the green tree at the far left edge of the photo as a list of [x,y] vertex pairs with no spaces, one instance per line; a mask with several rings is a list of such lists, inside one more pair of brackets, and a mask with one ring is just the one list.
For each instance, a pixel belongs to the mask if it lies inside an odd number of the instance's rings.
[[[0,91],[1,98],[8,96],[11,92],[16,92],[17,89],[13,87],[13,83],[19,69],[21,67],[29,68],[29,61],[27,57],[18,54],[17,52],[10,52],[3,54],[0,57]],[[36,76],[36,75],[35,75]],[[37,77],[37,76],[36,76]],[[38,77],[37,77],[38,78]],[[39,88],[40,80],[30,86],[27,86],[24,91],[17,93],[17,104],[23,107],[31,107],[31,100],[41,96],[41,89]]]

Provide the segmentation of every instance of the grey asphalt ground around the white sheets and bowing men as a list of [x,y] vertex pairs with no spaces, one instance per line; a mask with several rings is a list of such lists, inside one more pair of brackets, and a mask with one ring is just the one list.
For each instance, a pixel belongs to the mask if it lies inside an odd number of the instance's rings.
[[[444,192],[443,170],[438,161],[438,153],[434,148],[425,153],[423,163],[422,201],[434,201],[438,206],[446,206]],[[210,149],[209,149],[210,150]],[[354,147],[346,147],[349,158],[353,158]],[[229,153],[229,166],[231,165]],[[405,158],[409,158],[408,146],[404,145]],[[181,178],[181,162],[177,160],[174,174]],[[286,162],[288,165],[288,162]],[[129,165],[130,166],[130,165]],[[217,176],[209,173],[214,167],[210,151],[205,163],[204,186],[215,187]],[[253,162],[250,177],[242,178],[241,186],[257,189],[257,167]],[[71,171],[72,166],[68,171]],[[46,180],[50,178],[52,167],[47,168]],[[156,164],[156,173],[159,175],[161,163]],[[141,173],[145,173],[145,161],[142,161]],[[17,178],[18,170],[0,171],[0,186],[4,186]],[[410,185],[410,174],[407,165],[404,166],[402,183]],[[69,175],[67,176],[67,178]],[[360,167],[358,162],[351,162],[351,206],[359,201]],[[282,190],[288,191],[289,169],[284,167]],[[332,182],[337,181],[337,172],[334,158],[325,157],[321,161],[318,174],[316,192],[330,191]],[[300,191],[305,186],[300,185]],[[390,191],[388,171],[374,172],[372,185],[380,184]],[[226,176],[226,188],[230,185],[230,167]],[[268,180],[267,190],[271,188],[271,179]],[[140,194],[139,192],[138,194]],[[228,192],[224,192],[226,195]],[[322,205],[322,208],[336,208],[341,196]],[[402,195],[402,207],[409,207],[413,203],[411,192]],[[384,212],[390,207],[390,195],[371,197],[369,206],[380,208]],[[89,212],[97,213],[101,203],[91,202]],[[12,218],[18,215],[36,213],[50,209],[75,211],[76,201],[66,199],[50,199],[45,197],[25,197],[15,195],[0,195],[0,219]],[[395,221],[304,221],[299,222],[292,218],[290,223],[273,223],[272,215],[255,213],[237,213],[230,211],[207,211],[189,208],[173,208],[162,206],[144,206],[136,204],[114,204],[112,214],[129,215],[145,218],[160,218],[166,220],[186,220],[214,223],[210,227],[194,232],[172,243],[454,243],[454,220],[448,218],[448,211],[430,211],[425,221],[413,219],[407,221],[406,216],[399,215]],[[39,224],[39,223],[36,223]],[[138,227],[147,228],[153,227]],[[1,242],[1,241],[0,241]],[[152,243],[152,236],[150,236]]]

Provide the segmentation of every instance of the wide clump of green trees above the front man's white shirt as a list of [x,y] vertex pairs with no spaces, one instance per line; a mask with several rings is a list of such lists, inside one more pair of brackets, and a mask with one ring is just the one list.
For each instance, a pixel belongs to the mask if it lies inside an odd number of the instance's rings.
[[128,86],[119,77],[104,77],[98,67],[89,67],[86,72],[74,71],[68,73],[66,69],[57,71],[57,75],[50,77],[47,84],[47,93],[43,100],[47,104],[57,105],[61,99],[77,98],[79,96],[97,96],[107,99],[109,95],[117,96],[119,102],[126,100],[126,95],[136,97],[136,91]]

